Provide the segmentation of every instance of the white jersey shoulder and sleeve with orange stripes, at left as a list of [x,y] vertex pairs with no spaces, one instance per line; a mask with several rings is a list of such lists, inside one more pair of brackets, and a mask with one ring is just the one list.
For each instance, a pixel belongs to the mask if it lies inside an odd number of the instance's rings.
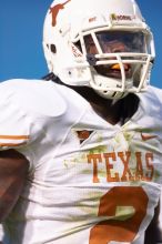
[[[11,80],[0,84],[0,151],[14,149],[34,169],[65,113],[52,82]],[[54,132],[53,132],[54,131]],[[51,134],[50,134],[51,133]],[[51,139],[52,136],[52,139]],[[31,169],[30,167],[30,169]]]

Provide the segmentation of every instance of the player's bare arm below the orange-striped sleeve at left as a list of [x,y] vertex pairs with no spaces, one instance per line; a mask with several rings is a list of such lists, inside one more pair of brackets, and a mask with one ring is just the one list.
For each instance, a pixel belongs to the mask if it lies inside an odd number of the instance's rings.
[[14,150],[0,151],[0,222],[14,206],[28,173],[28,160]]

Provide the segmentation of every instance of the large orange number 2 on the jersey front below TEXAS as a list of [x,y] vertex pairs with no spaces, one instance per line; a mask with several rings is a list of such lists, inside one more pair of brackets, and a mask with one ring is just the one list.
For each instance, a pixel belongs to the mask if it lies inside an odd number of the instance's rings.
[[[132,242],[146,214],[148,195],[140,186],[115,186],[101,197],[98,216],[115,216],[118,207],[133,207],[133,213],[124,218],[101,221],[90,231],[89,244]],[[126,217],[125,217],[126,216]]]

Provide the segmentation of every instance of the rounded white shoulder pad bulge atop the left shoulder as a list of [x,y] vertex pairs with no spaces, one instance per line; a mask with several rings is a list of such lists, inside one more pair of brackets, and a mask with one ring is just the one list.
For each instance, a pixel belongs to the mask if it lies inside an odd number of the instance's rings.
[[67,104],[54,88],[54,83],[42,80],[9,80],[2,82],[2,92],[12,96],[12,102],[27,112],[40,116],[60,116],[65,112]]

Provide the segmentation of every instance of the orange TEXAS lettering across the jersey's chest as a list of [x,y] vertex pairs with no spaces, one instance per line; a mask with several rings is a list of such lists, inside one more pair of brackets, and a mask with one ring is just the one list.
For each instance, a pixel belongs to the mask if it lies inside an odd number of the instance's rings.
[[[135,161],[135,165],[131,169],[130,161],[132,156]],[[128,182],[128,181],[152,181],[154,167],[153,167],[153,153],[146,152],[109,152],[100,154],[88,154],[88,163],[93,165],[93,182],[99,183],[99,164],[105,164],[107,182]],[[144,160],[144,162],[143,162]],[[122,173],[114,170],[118,162],[123,166]]]

